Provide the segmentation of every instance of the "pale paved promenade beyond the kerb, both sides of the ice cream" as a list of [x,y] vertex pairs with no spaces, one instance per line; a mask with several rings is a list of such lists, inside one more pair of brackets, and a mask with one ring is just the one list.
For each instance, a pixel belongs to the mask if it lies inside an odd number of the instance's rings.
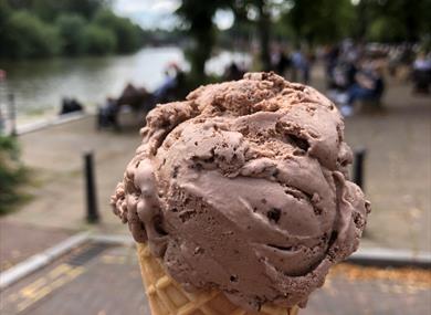
[[[320,90],[322,76],[318,70],[314,72],[313,85]],[[382,113],[346,120],[348,143],[368,150],[365,189],[374,210],[361,245],[431,251],[431,97],[412,96],[409,86],[391,83],[383,103]],[[1,229],[9,231],[3,245],[8,242],[7,246],[21,251],[22,242],[17,241],[27,233],[14,225],[46,233],[51,229],[128,233],[112,214],[108,201],[140,141],[138,126],[144,118],[122,119],[128,126],[122,133],[96,132],[94,117],[86,117],[19,137],[22,160],[33,169],[28,192],[34,198],[7,217],[10,228],[2,223]],[[94,151],[96,161],[102,214],[96,227],[84,219],[82,155],[86,150]]]

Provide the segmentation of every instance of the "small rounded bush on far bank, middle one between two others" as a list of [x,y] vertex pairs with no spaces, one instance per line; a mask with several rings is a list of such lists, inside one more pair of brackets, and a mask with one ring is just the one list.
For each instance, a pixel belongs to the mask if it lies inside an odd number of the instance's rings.
[[87,54],[101,55],[115,51],[117,41],[115,34],[96,24],[88,24],[84,30],[84,50]]

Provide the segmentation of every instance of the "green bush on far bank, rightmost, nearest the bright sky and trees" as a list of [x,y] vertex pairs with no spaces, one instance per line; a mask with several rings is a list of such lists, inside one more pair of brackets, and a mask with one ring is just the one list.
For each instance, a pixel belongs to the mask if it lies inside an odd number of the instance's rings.
[[111,10],[99,10],[94,17],[94,22],[115,33],[117,52],[133,52],[141,44],[140,28],[132,23],[129,19],[115,15]]

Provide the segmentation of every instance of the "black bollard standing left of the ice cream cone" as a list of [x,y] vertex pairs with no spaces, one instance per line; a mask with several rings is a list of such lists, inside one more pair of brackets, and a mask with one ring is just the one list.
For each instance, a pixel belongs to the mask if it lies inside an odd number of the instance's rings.
[[85,195],[87,203],[87,222],[97,223],[99,220],[97,211],[96,185],[94,180],[93,153],[84,154]]

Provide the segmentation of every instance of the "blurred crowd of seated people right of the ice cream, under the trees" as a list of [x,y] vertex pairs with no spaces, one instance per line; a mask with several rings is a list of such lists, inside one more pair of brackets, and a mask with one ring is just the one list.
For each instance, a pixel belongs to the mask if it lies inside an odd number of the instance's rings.
[[315,61],[325,66],[327,95],[344,116],[355,113],[360,102],[381,105],[386,75],[412,81],[412,92],[429,94],[431,53],[412,44],[362,44],[345,40],[315,51],[297,48],[292,52],[277,45],[272,50],[272,70],[293,82],[309,83]]

